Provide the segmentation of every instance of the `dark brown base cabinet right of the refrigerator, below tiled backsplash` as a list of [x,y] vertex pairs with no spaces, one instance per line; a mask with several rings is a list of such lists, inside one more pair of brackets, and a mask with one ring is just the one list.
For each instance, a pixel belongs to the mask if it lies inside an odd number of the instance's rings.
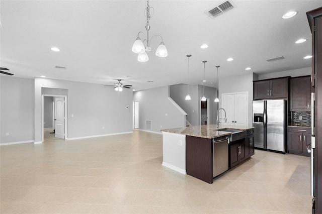
[[311,143],[310,129],[288,128],[287,146],[288,152],[297,155],[310,156],[306,147]]

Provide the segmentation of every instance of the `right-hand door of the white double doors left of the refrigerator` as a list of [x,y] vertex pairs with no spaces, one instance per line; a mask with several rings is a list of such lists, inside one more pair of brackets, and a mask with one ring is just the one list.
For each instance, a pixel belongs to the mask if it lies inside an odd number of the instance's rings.
[[234,94],[234,127],[245,127],[248,125],[248,94]]

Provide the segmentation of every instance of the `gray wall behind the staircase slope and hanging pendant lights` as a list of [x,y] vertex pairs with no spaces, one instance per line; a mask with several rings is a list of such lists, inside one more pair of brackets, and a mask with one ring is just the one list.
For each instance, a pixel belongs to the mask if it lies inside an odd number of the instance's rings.
[[[200,99],[203,96],[203,85],[189,85],[191,100],[185,100],[188,93],[187,87],[187,84],[170,85],[170,97],[187,113],[189,123],[198,126],[200,125]],[[216,88],[205,86],[205,97],[209,98],[210,103],[210,124],[215,124],[217,117],[217,104],[214,102]]]

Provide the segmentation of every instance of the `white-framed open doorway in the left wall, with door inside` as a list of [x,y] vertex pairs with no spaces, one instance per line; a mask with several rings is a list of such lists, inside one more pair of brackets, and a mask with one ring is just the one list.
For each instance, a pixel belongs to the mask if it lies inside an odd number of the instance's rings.
[[42,94],[42,142],[67,136],[66,95]]

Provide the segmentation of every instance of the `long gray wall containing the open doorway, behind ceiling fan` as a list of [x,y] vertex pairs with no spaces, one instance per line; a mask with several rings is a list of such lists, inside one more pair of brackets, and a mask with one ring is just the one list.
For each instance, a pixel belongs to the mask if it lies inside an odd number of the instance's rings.
[[68,89],[67,138],[132,132],[132,90],[117,92],[99,84],[35,78],[35,142],[42,137],[43,87]]

